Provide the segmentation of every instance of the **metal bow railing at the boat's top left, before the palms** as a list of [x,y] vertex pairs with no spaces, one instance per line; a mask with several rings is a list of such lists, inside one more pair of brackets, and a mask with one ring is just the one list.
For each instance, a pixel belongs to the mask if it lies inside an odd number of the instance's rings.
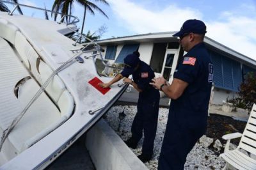
[[60,14],[62,17],[60,19],[60,21],[58,22],[58,24],[61,23],[62,20],[64,20],[65,17],[70,17],[70,18],[73,18],[71,20],[71,22],[67,21],[67,25],[70,25],[70,24],[76,24],[77,22],[79,22],[79,19],[78,17],[76,16],[73,16],[73,15],[67,15],[67,14],[63,14],[63,13],[60,13],[60,12],[54,12],[52,10],[46,10],[44,8],[38,8],[38,7],[35,7],[35,6],[29,6],[27,4],[20,4],[20,3],[13,3],[13,2],[10,2],[10,1],[3,1],[3,0],[0,0],[1,2],[3,3],[8,3],[8,4],[14,4],[14,8],[13,10],[9,13],[9,15],[13,15],[13,12],[15,12],[15,10],[18,8],[18,6],[25,6],[25,7],[28,7],[28,8],[33,8],[33,9],[36,9],[36,10],[41,10],[41,11],[46,11],[46,12],[51,12],[51,13],[57,13],[57,14]]

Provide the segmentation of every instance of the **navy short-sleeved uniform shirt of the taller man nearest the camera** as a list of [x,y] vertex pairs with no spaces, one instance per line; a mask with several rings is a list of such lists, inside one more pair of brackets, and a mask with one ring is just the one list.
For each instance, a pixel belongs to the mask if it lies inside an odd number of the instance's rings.
[[206,123],[213,68],[204,43],[198,43],[180,59],[173,77],[188,82],[183,94],[171,102],[173,119],[183,123]]

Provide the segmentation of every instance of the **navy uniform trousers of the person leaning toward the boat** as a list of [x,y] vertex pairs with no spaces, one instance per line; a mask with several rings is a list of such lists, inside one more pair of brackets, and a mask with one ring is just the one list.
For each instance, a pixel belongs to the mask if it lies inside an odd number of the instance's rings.
[[138,112],[132,122],[132,141],[138,143],[144,131],[144,141],[142,154],[152,155],[154,149],[154,140],[157,130],[157,119],[159,110],[159,100],[157,102],[138,103]]

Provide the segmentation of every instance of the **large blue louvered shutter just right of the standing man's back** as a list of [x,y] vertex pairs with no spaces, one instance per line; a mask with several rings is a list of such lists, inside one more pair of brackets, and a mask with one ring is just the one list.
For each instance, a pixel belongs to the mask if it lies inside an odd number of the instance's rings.
[[240,63],[209,51],[213,64],[213,82],[218,88],[238,91],[242,82]]

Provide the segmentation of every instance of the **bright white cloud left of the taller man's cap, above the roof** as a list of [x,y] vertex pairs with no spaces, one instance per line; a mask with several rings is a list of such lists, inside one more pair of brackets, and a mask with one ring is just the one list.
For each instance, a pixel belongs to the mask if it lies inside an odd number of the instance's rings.
[[136,33],[179,30],[187,19],[200,19],[202,14],[189,8],[180,9],[175,5],[152,12],[127,0],[109,0],[120,22]]

